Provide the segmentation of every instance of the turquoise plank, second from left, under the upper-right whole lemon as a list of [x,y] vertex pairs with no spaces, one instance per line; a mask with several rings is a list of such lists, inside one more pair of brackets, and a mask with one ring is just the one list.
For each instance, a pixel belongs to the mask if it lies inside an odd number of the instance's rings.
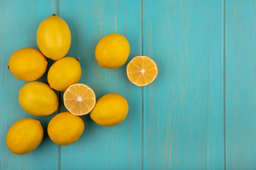
[[[107,93],[119,93],[129,104],[126,119],[114,127],[98,126],[90,115],[83,116],[85,131],[82,137],[70,146],[61,146],[61,169],[141,169],[141,88],[130,83],[126,76],[128,61],[141,55],[139,1],[70,3],[61,0],[60,15],[70,26],[72,35],[67,55],[79,57],[81,62],[79,82],[90,86],[97,99]],[[94,51],[99,40],[113,32],[127,38],[130,56],[124,66],[110,70],[99,66]]]

